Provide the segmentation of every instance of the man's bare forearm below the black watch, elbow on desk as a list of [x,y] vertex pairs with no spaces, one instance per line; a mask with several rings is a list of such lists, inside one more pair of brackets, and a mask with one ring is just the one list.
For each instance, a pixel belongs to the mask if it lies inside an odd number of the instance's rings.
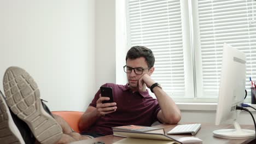
[[170,124],[178,123],[181,120],[181,111],[172,98],[159,87],[155,87],[153,91],[161,107],[162,120]]

